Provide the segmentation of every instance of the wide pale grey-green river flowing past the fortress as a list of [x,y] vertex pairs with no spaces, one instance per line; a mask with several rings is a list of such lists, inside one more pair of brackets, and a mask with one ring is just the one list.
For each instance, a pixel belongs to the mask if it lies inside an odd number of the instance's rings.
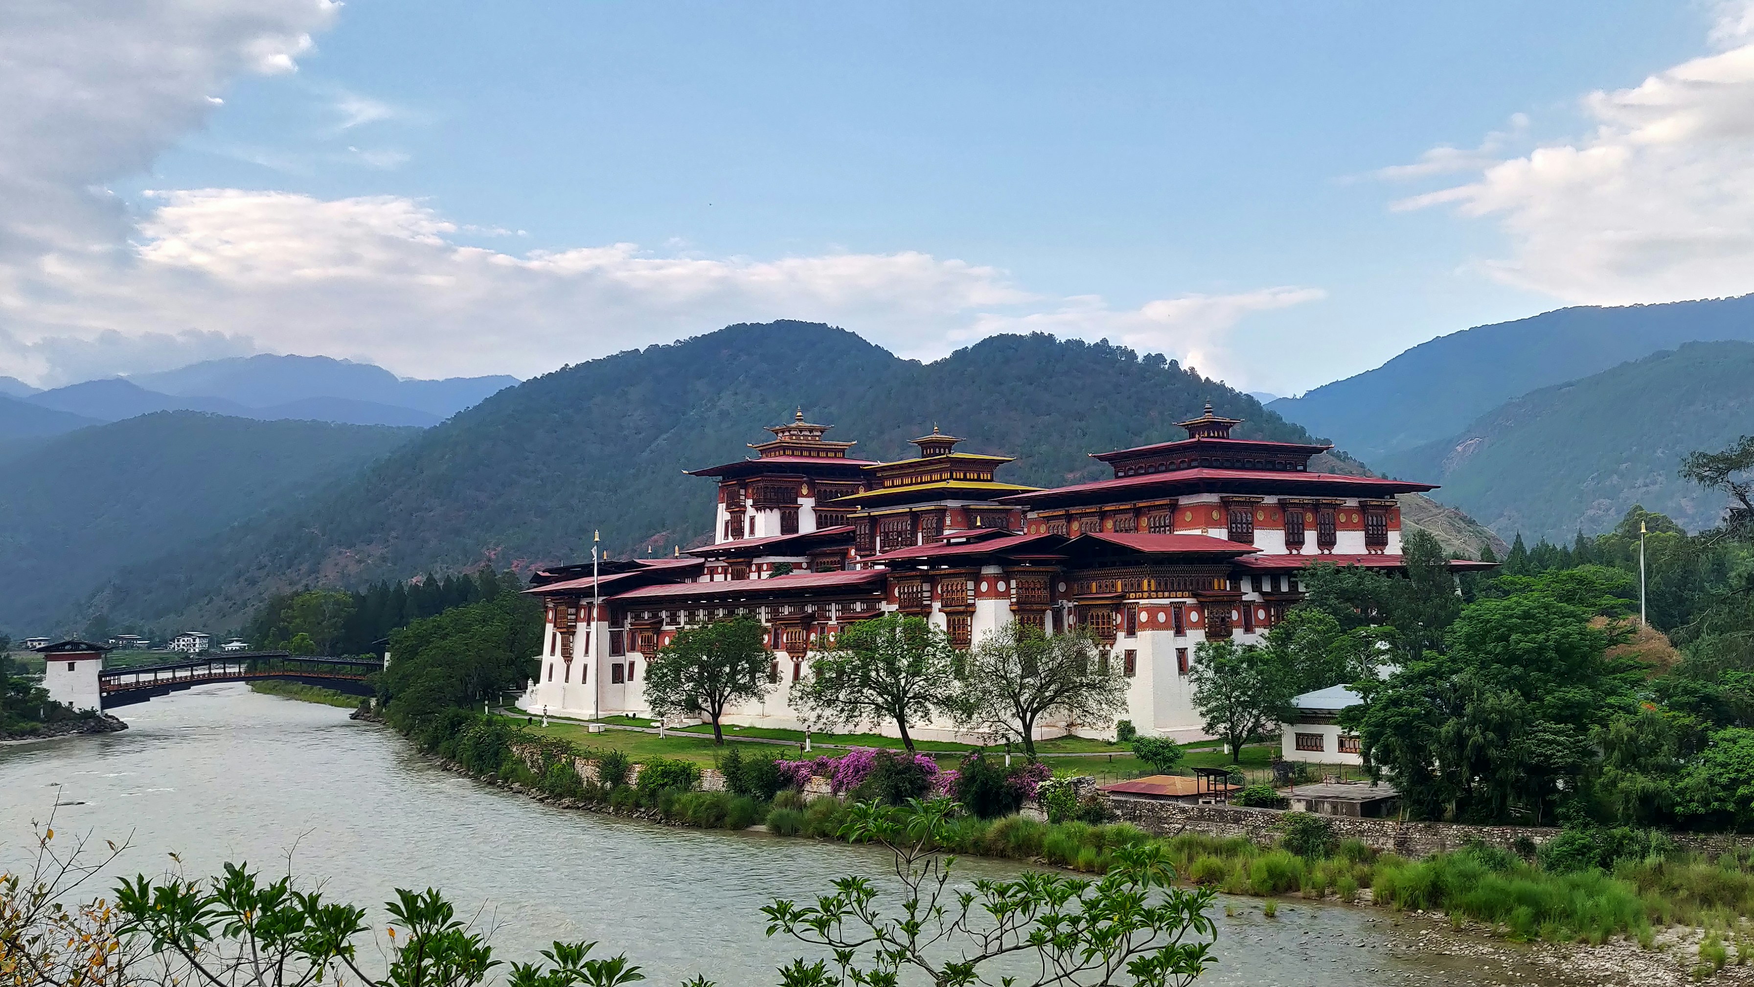
[[[32,847],[32,819],[132,849],[119,871],[189,873],[249,861],[321,880],[330,898],[381,903],[391,889],[438,887],[481,908],[495,952],[535,959],[551,940],[600,940],[651,983],[705,973],[724,987],[774,983],[807,948],[766,938],[759,906],[807,898],[833,877],[881,871],[866,847],[759,833],[670,829],[558,810],[453,775],[347,710],[205,685],[126,707],[130,729],[0,745],[0,870]],[[970,861],[980,873],[1009,864]],[[105,882],[107,884],[107,882]],[[1556,983],[1522,962],[1444,955],[1368,908],[1224,899],[1214,985],[1375,987]],[[382,912],[374,910],[381,920]],[[596,955],[603,955],[598,952]]]

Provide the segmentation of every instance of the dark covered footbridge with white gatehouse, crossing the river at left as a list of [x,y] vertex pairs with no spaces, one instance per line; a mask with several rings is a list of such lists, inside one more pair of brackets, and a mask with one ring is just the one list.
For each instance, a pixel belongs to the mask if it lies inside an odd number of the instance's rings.
[[60,642],[37,649],[46,661],[42,684],[49,698],[75,710],[111,710],[216,682],[281,680],[319,685],[351,696],[370,696],[381,659],[295,656],[284,650],[244,650],[193,656],[163,664],[103,668],[111,649],[89,642]]

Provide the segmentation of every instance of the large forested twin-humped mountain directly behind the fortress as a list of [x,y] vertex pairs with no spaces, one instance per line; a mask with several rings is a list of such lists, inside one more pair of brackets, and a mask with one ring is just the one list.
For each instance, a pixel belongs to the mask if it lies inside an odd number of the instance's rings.
[[1107,475],[1089,452],[1180,437],[1205,401],[1245,419],[1238,438],[1308,442],[1221,382],[1109,344],[993,337],[921,365],[830,326],[730,326],[500,391],[272,524],[121,570],[81,614],[217,624],[295,586],[572,561],[596,529],[612,552],[667,554],[712,524],[712,482],[682,470],[745,456],[798,407],[866,459],[912,454],[938,424],[1017,456],[1007,480],[1049,486]]

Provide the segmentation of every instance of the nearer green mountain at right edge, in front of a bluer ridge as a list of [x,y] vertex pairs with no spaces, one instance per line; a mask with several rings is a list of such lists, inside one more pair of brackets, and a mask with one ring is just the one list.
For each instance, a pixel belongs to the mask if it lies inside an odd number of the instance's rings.
[[1596,535],[1635,503],[1696,531],[1724,500],[1682,480],[1680,459],[1754,435],[1750,380],[1754,345],[1686,344],[1531,391],[1375,466],[1444,484],[1438,500],[1505,538]]

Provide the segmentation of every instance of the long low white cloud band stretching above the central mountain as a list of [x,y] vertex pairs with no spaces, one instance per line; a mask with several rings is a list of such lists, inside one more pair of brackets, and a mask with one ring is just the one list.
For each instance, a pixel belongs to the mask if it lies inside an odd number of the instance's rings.
[[[1247,314],[1321,296],[1275,288],[1116,310],[1100,298],[1040,296],[1002,270],[923,252],[749,259],[610,244],[510,254],[460,244],[456,224],[398,196],[200,189],[153,198],[160,205],[140,223],[130,263],[35,277],[33,300],[9,310],[23,342],[177,326],[232,345],[363,352],[412,375],[530,375],[731,321],[795,317],[856,328],[903,356],[1045,330],[1205,368],[1224,363],[1224,337]],[[28,338],[30,330],[40,335]],[[56,351],[39,344],[32,352],[37,375],[68,372],[53,365]]]

